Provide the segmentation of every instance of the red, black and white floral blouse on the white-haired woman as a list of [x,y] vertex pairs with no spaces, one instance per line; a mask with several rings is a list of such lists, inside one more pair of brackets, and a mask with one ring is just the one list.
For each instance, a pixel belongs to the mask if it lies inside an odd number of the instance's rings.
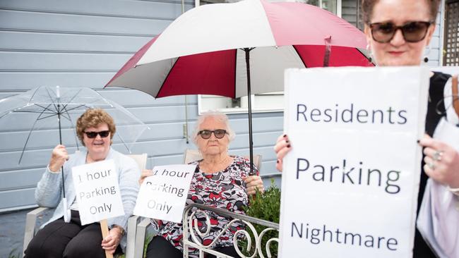
[[[237,214],[245,214],[244,206],[249,204],[249,198],[246,192],[246,183],[242,178],[249,176],[250,163],[249,160],[242,156],[232,156],[234,161],[222,171],[217,171],[212,174],[206,174],[199,168],[199,161],[194,161],[191,164],[197,165],[196,171],[191,180],[190,190],[186,204],[205,204],[210,207],[227,209]],[[258,175],[258,169],[255,168]],[[229,223],[229,219],[211,211],[205,211],[209,218],[210,233],[203,237],[196,234],[196,237],[201,240],[203,245],[208,245]],[[205,216],[197,214],[199,227],[206,228]],[[153,221],[153,226],[160,231],[158,235],[166,238],[174,247],[183,252],[181,239],[183,238],[183,228],[181,223],[169,221]],[[224,234],[220,235],[220,239],[213,245],[215,247],[227,247],[233,245],[233,235],[239,229],[243,228],[241,223],[233,223]],[[190,257],[198,257],[198,250],[189,248]]]

